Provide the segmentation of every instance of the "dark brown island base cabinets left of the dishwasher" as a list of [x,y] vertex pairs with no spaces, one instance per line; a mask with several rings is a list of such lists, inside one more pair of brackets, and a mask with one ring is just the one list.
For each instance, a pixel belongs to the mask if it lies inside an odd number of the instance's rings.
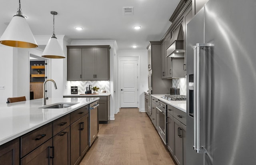
[[0,165],[78,165],[89,148],[89,126],[86,105],[0,145]]

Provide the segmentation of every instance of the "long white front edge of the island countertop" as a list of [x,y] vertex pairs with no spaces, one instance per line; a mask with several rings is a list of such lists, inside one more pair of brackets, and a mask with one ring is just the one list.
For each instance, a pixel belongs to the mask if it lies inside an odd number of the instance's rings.
[[55,116],[55,117],[53,117],[53,118],[51,118],[51,119],[48,119],[47,121],[43,121],[43,122],[41,122],[41,123],[38,123],[38,124],[36,124],[36,125],[33,125],[32,127],[28,128],[28,129],[25,129],[25,130],[22,130],[22,131],[20,131],[20,132],[14,134],[14,135],[5,137],[5,138],[3,138],[3,139],[0,139],[0,145],[3,145],[3,144],[5,144],[5,143],[8,143],[9,141],[12,141],[13,139],[16,139],[17,137],[20,137],[20,136],[22,136],[22,135],[25,135],[26,133],[29,133],[30,131],[33,131],[34,129],[37,129],[37,128],[43,126],[43,125],[46,125],[46,124],[48,124],[48,123],[50,123],[50,122],[52,122],[52,121],[54,121],[54,120],[56,120],[56,119],[58,119],[58,118],[64,116],[64,115],[67,115],[67,114],[69,114],[69,113],[71,113],[71,112],[73,112],[73,111],[75,111],[75,110],[77,110],[77,109],[79,109],[79,108],[81,108],[81,107],[84,107],[84,106],[86,106],[86,105],[88,105],[88,104],[90,104],[90,103],[92,103],[92,102],[94,102],[94,101],[96,101],[96,100],[99,100],[99,99],[100,99],[100,98],[95,97],[94,100],[88,101],[87,103],[82,103],[81,105],[78,105],[78,106],[74,107],[74,108],[71,109],[70,111],[67,111],[67,112],[62,113],[62,114],[60,114],[60,115],[57,115],[57,116]]

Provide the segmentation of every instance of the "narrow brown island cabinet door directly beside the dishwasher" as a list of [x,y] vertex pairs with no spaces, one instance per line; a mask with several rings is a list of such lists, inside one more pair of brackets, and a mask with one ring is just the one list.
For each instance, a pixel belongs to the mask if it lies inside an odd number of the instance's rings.
[[84,117],[81,118],[82,122],[82,129],[81,131],[81,153],[82,156],[86,153],[87,149],[89,148],[89,114],[85,115]]

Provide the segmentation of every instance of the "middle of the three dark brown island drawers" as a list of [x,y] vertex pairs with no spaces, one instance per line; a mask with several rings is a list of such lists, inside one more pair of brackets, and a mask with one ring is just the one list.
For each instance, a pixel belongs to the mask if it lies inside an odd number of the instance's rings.
[[70,125],[70,114],[56,119],[52,123],[53,136]]

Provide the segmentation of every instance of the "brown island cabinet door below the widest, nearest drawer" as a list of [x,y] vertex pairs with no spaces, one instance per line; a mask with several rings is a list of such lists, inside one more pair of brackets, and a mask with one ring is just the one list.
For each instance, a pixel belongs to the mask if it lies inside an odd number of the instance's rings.
[[52,138],[20,160],[20,165],[52,165],[54,148]]

